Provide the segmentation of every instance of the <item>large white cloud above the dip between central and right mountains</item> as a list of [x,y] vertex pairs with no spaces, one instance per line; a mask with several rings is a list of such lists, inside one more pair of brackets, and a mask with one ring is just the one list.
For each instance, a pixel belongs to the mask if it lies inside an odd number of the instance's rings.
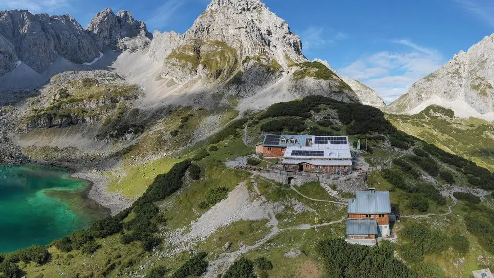
[[436,71],[444,62],[443,56],[435,49],[410,40],[392,42],[408,48],[401,52],[377,52],[340,70],[376,90],[386,103],[406,93],[414,82]]

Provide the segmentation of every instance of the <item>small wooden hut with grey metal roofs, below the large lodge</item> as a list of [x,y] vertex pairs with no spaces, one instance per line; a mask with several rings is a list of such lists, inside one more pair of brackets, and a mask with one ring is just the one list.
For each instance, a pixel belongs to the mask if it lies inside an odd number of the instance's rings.
[[391,222],[396,220],[391,213],[389,191],[369,188],[348,199],[346,234],[350,239],[373,239],[391,235]]

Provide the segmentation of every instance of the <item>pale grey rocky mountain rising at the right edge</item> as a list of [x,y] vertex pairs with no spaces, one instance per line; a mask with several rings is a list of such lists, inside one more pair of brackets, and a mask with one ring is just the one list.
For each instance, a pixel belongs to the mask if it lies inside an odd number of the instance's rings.
[[430,105],[450,108],[460,117],[494,119],[494,34],[418,80],[387,111],[416,114]]

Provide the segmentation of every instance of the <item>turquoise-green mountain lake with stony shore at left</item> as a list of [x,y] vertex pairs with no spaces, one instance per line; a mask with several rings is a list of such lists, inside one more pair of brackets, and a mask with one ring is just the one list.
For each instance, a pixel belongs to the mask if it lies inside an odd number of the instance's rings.
[[46,245],[107,216],[85,198],[89,186],[66,169],[0,165],[0,253]]

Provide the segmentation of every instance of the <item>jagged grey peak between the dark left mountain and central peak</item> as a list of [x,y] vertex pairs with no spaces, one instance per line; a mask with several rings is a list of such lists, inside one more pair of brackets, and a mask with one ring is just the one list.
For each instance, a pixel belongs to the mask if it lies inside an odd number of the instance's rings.
[[146,24],[135,20],[130,12],[124,10],[115,15],[107,8],[99,12],[86,29],[101,49],[109,47],[135,51],[148,46],[152,39]]

